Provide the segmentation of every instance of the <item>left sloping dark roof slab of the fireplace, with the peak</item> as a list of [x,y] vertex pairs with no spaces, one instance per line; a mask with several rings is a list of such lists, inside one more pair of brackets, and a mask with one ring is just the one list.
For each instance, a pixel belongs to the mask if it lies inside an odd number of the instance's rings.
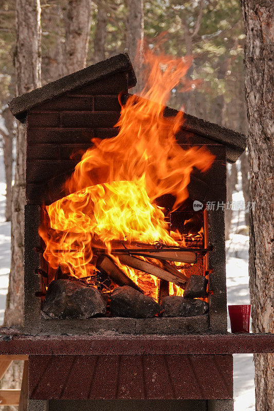
[[58,98],[68,91],[86,86],[87,84],[94,83],[119,72],[126,72],[128,74],[129,88],[135,86],[137,80],[129,55],[127,53],[120,53],[107,60],[45,84],[43,87],[36,88],[22,96],[15,97],[8,102],[8,105],[13,116],[22,123],[25,123],[27,111],[36,105],[53,98]]

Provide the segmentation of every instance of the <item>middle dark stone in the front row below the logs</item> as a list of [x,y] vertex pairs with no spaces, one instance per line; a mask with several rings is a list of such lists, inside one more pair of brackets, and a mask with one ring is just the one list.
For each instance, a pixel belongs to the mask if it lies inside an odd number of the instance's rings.
[[162,311],[153,298],[132,287],[117,287],[111,296],[111,312],[115,317],[151,318]]

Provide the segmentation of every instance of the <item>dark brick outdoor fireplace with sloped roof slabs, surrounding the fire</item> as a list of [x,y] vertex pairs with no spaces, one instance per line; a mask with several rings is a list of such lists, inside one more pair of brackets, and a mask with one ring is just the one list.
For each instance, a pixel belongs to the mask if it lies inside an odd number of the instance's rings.
[[[52,275],[43,256],[44,242],[39,235],[45,207],[67,195],[64,183],[82,154],[92,145],[91,140],[112,138],[118,134],[115,124],[120,116],[119,99],[123,104],[129,98],[128,90],[135,84],[136,78],[129,57],[119,54],[16,97],[9,103],[12,114],[25,123],[27,128],[24,272],[26,334],[38,337],[48,335],[54,339],[58,339],[58,336],[61,339],[64,334],[88,335],[102,340],[112,335],[113,338],[117,336],[117,341],[120,337],[130,338],[134,346],[135,337],[147,338],[149,335],[155,339],[157,336],[166,338],[168,343],[169,338],[176,335],[227,333],[224,222],[226,162],[235,162],[239,158],[246,147],[246,136],[187,114],[176,132],[177,143],[184,150],[205,146],[214,160],[204,173],[194,168],[188,184],[189,198],[183,207],[169,214],[168,223],[173,231],[178,230],[180,235],[187,238],[185,248],[189,247],[195,255],[194,263],[187,267],[188,277],[203,276],[206,279],[203,301],[207,304],[207,311],[195,316],[165,316],[164,309],[159,315],[147,318],[115,316],[107,311],[107,315],[85,319],[52,319],[41,311],[45,297],[41,272],[47,279]],[[178,111],[165,108],[164,116],[175,118],[177,114]],[[169,196],[163,196],[159,205],[171,209],[170,202]],[[201,204],[198,211],[195,210],[195,202]],[[214,210],[206,207],[209,203],[215,204]],[[197,236],[188,236],[186,222],[190,220],[198,225],[196,231],[203,229],[203,236],[199,240]],[[48,285],[49,283],[46,284],[47,287]],[[161,280],[158,295],[160,304],[163,297],[169,294],[167,287],[167,282]],[[106,372],[106,364],[111,364],[109,366],[114,372],[113,378]],[[38,406],[35,401],[39,400],[120,399],[135,400],[135,404],[136,400],[153,400],[157,403],[153,405],[150,402],[148,405],[143,402],[142,407],[154,409],[155,406],[160,410],[165,408],[165,400],[172,399],[175,403],[169,402],[170,409],[231,410],[232,367],[230,354],[203,356],[190,353],[168,356],[154,353],[112,356],[108,353],[105,356],[68,356],[64,353],[57,357],[33,356],[29,368],[29,396],[34,405],[30,409],[38,409],[34,406]],[[86,371],[81,379],[84,368]],[[61,379],[66,384],[60,385],[59,381],[51,379],[52,375],[62,376]],[[185,376],[184,383],[179,377],[181,375]],[[70,379],[76,383],[67,383]],[[141,385],[139,381],[142,381]],[[60,404],[51,402],[50,409],[58,409],[56,407],[60,407]],[[71,404],[62,409],[73,409]],[[94,406],[101,409],[100,406],[104,407],[106,403],[97,401],[96,404]],[[119,406],[127,409],[129,404],[124,402]],[[92,406],[92,403],[85,403],[83,409],[93,409],[88,408]],[[109,405],[113,406],[114,403]]]

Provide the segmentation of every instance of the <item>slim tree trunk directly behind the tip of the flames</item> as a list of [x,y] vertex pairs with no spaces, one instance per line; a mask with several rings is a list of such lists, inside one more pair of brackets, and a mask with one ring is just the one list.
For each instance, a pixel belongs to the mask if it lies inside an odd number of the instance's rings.
[[137,85],[132,92],[141,91],[143,87],[142,63],[143,63],[143,0],[129,0],[128,16],[128,46],[129,55],[137,77]]

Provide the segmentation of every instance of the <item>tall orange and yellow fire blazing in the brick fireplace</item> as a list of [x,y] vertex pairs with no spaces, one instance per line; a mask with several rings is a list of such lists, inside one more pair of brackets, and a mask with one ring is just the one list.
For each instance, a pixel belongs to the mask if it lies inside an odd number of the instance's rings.
[[[46,207],[48,222],[45,219],[40,235],[46,246],[44,257],[54,269],[61,266],[76,277],[90,275],[95,269],[92,248],[98,242],[109,254],[113,240],[178,244],[156,199],[172,194],[173,210],[178,208],[188,198],[193,167],[208,170],[214,156],[204,147],[183,150],[175,135],[184,113],[172,118],[163,113],[170,91],[187,84],[191,60],[152,51],[144,57],[148,80],[140,97],[130,96],[121,105],[119,134],[93,139],[94,145],[66,182],[68,195]],[[156,277],[115,260],[145,293],[157,297]],[[182,290],[170,285],[170,292]]]

